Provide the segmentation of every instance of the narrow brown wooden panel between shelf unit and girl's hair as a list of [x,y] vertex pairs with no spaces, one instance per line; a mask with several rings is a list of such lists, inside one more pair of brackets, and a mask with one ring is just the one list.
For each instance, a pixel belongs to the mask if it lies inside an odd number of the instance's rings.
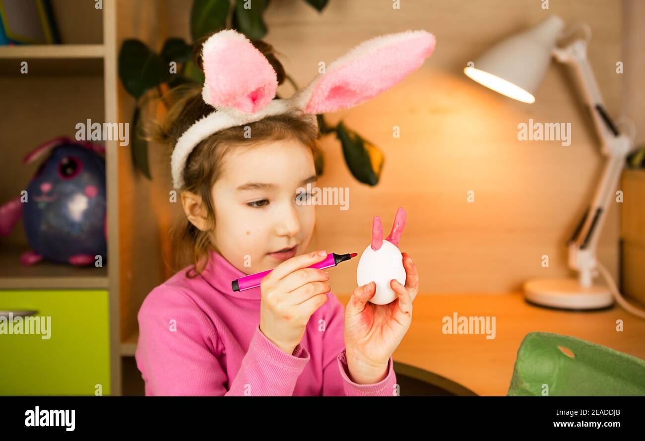
[[[154,50],[161,50],[164,34],[156,0],[117,1],[117,52],[124,39],[137,38]],[[119,121],[132,123],[135,101],[118,81]],[[132,127],[130,130],[133,136]],[[164,210],[155,209],[155,189],[164,188],[155,166],[155,148],[150,148],[153,181],[136,172],[130,146],[119,149],[119,268],[121,292],[121,340],[138,333],[137,313],[143,299],[166,279],[161,259]]]

